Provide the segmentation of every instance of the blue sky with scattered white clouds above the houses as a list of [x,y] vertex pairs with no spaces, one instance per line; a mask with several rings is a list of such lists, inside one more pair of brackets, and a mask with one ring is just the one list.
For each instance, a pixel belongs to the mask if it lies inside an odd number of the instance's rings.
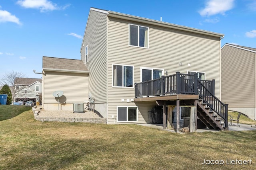
[[0,79],[41,78],[42,56],[80,59],[90,7],[223,33],[256,48],[256,0],[0,0]]

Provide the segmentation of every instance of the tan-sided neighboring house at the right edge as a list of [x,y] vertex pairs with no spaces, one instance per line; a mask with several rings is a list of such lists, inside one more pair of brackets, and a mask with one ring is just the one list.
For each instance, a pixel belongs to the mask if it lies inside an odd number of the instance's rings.
[[256,119],[256,48],[221,48],[221,99],[228,109]]

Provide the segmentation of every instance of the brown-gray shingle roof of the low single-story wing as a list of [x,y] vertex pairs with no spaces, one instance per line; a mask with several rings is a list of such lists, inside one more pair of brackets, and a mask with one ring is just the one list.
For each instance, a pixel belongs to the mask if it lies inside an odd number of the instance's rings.
[[88,71],[82,60],[43,57],[43,69]]

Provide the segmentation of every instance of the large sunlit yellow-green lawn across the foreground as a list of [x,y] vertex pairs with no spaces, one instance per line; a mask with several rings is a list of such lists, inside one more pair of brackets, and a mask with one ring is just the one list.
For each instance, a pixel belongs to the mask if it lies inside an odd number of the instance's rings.
[[[0,121],[0,128],[1,170],[256,169],[256,131],[176,134],[140,125],[42,123],[31,110]],[[204,159],[224,164],[203,165]]]

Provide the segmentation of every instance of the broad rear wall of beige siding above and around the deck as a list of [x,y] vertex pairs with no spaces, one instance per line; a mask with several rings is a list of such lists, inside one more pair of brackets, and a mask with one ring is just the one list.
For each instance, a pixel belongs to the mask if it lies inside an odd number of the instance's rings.
[[[128,24],[149,27],[149,48],[130,47]],[[182,66],[179,66],[179,63]],[[154,25],[109,18],[108,21],[108,123],[116,114],[116,106],[136,106],[121,99],[134,98],[134,88],[112,87],[112,64],[134,66],[134,82],[140,82],[140,68],[163,68],[168,74],[188,70],[206,72],[207,80],[216,80],[216,96],[220,96],[220,39]],[[190,66],[188,66],[190,64]],[[147,111],[150,111],[148,108]],[[146,114],[143,111],[143,115]],[[144,123],[139,115],[139,123]],[[145,119],[146,120],[146,119]]]

